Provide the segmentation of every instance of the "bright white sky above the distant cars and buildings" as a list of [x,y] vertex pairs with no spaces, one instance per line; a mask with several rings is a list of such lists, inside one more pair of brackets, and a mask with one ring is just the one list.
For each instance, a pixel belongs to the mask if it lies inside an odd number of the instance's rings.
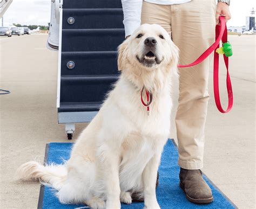
[[[245,17],[250,15],[253,7],[256,10],[255,0],[231,0],[230,10],[232,19],[228,21],[227,26],[245,25]],[[4,14],[4,23],[48,25],[50,16],[51,0],[13,0],[9,9]]]

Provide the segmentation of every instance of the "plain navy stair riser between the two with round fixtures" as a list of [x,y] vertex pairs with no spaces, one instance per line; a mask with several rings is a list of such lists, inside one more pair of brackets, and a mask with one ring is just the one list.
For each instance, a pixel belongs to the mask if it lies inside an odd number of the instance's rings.
[[124,37],[124,29],[63,29],[62,51],[116,51]]

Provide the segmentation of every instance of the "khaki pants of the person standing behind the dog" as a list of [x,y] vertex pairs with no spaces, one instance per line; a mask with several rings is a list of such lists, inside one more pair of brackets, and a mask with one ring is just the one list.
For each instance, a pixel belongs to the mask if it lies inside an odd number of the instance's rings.
[[[142,24],[159,24],[180,50],[180,64],[196,60],[215,37],[215,0],[192,0],[161,5],[143,2]],[[179,165],[203,168],[210,58],[199,65],[179,68],[179,106],[176,115]]]

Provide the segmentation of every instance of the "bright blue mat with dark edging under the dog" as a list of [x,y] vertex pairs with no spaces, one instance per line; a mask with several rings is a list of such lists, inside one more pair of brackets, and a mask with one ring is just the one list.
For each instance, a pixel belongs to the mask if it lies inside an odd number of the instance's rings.
[[[46,147],[45,159],[47,163],[63,163],[63,159],[70,157],[72,143],[50,143]],[[190,203],[179,187],[179,166],[177,164],[177,148],[171,140],[165,145],[161,165],[159,168],[159,186],[157,188],[157,200],[162,209],[170,208],[237,208],[206,176],[204,179],[210,185],[213,193],[213,203],[197,205]],[[86,205],[63,205],[55,197],[55,190],[49,186],[41,187],[38,208],[89,208]],[[122,204],[124,208],[143,208],[143,203]]]

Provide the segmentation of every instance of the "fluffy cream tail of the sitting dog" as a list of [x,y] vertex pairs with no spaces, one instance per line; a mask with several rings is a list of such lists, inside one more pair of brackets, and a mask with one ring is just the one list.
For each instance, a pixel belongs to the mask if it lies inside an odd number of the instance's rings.
[[16,178],[24,181],[39,180],[43,184],[50,184],[56,190],[60,190],[67,176],[66,165],[41,165],[36,161],[22,164]]

